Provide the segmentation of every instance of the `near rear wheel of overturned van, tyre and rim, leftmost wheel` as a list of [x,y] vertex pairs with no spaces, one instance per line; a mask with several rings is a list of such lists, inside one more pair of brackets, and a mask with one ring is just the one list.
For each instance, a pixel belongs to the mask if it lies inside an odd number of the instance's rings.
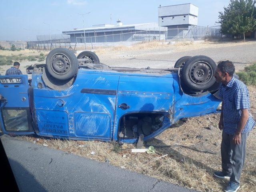
[[75,54],[66,48],[56,48],[46,57],[46,69],[58,80],[74,77],[78,71],[78,60]]

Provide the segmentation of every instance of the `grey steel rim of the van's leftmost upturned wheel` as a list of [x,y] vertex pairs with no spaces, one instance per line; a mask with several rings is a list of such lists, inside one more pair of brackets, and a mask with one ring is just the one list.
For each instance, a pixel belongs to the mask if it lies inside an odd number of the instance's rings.
[[51,68],[58,75],[66,74],[71,68],[70,59],[65,54],[55,54],[51,58]]

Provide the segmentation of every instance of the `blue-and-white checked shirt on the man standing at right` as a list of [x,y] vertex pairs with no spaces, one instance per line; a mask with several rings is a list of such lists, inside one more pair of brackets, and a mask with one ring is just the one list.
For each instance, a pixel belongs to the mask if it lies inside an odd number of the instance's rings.
[[[223,100],[223,131],[226,134],[234,134],[242,115],[241,109],[248,109],[250,113],[250,98],[246,85],[240,80],[232,77],[227,86],[220,86],[219,96]],[[249,132],[255,125],[250,114],[242,133]]]

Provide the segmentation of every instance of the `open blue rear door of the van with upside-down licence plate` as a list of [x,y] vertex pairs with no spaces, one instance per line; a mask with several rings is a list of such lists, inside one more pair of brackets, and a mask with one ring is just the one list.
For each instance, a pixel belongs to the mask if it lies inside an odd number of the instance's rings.
[[5,134],[33,134],[27,75],[0,76],[1,128]]

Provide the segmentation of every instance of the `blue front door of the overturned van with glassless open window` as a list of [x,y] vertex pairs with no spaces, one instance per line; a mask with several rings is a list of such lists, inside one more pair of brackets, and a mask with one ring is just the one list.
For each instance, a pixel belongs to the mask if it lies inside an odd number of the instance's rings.
[[[136,139],[141,133],[146,137],[153,137],[159,134],[162,128],[170,126],[173,107],[172,86],[173,78],[167,75],[164,76],[164,74],[160,77],[153,74],[120,76],[116,102],[114,139]],[[142,122],[142,132],[134,130],[137,129],[137,124],[141,126],[141,120],[149,120],[149,123],[144,126],[144,129]],[[155,120],[162,121],[161,126],[154,124],[153,121]],[[131,137],[124,134],[120,136],[124,124],[124,132],[128,135],[130,131]],[[138,135],[136,136],[134,132]],[[126,142],[128,141],[126,140]],[[134,142],[134,140],[130,142]]]

